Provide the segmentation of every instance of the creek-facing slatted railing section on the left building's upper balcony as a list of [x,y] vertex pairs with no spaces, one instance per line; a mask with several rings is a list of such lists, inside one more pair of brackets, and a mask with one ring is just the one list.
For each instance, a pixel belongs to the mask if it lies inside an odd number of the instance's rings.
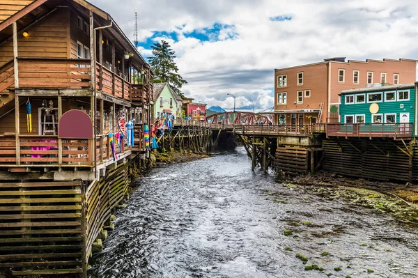
[[115,98],[131,100],[131,85],[121,76],[104,68],[100,63],[96,64],[96,85],[98,91],[107,95],[113,95]]

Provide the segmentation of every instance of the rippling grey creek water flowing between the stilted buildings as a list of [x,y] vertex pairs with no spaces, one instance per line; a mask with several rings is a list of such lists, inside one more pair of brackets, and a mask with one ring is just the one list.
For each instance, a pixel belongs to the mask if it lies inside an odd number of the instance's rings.
[[243,148],[136,183],[90,277],[418,277],[417,227],[252,173]]

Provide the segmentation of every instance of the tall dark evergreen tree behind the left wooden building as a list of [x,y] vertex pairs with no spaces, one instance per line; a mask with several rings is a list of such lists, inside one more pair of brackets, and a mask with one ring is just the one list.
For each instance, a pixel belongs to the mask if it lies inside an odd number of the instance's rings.
[[178,95],[184,98],[180,88],[183,84],[187,84],[187,81],[177,73],[178,68],[174,62],[176,52],[165,40],[161,40],[161,43],[154,43],[151,49],[153,49],[153,56],[148,57],[148,63],[153,68],[154,83],[167,82]]

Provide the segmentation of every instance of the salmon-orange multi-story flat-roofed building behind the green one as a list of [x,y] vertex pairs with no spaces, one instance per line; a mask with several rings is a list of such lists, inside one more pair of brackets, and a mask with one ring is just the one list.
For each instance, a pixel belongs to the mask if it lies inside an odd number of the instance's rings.
[[346,61],[345,57],[274,70],[274,122],[310,125],[338,121],[339,94],[373,84],[407,84],[416,79],[417,61]]

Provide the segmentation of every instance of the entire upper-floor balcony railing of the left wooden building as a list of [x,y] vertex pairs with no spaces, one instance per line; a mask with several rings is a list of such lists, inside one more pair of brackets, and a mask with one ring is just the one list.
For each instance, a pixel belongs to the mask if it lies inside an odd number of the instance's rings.
[[[19,88],[91,89],[90,59],[26,58],[17,59]],[[128,102],[148,104],[152,86],[130,84],[121,75],[96,63],[96,88],[105,95]],[[0,93],[8,95],[15,86],[13,60],[0,67]]]

